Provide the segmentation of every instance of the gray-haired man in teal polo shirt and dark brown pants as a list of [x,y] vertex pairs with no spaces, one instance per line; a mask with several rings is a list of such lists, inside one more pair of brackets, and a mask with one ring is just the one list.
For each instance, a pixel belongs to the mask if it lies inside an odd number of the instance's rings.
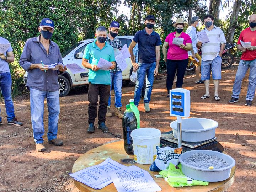
[[108,106],[108,97],[110,94],[111,77],[110,71],[101,70],[97,64],[100,58],[112,63],[110,69],[115,68],[114,49],[106,43],[107,29],[106,27],[98,27],[96,29],[94,42],[88,44],[84,51],[82,65],[89,69],[89,90],[88,90],[88,133],[95,132],[94,121],[97,117],[98,96],[100,96],[100,106],[98,110],[98,128],[103,132],[109,132],[105,125],[106,113]]

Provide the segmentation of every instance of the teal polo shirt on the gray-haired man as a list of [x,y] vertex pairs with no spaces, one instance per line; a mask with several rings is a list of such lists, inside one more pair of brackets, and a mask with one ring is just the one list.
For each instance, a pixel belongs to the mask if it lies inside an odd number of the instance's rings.
[[[100,48],[96,45],[96,41],[97,40],[86,46],[83,58],[88,59],[88,63],[91,65],[97,65],[100,58],[103,58],[109,62],[115,61],[113,47],[105,42],[105,46],[100,50]],[[92,84],[111,84],[110,71],[93,71],[92,69],[89,69],[88,75],[88,81]]]

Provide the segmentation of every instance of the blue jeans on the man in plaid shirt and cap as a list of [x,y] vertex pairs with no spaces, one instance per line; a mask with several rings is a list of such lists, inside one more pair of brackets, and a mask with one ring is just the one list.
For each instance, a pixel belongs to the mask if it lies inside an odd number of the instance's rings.
[[108,106],[111,104],[111,89],[114,84],[115,92],[115,106],[122,107],[121,98],[122,98],[122,81],[123,75],[122,71],[110,72],[111,84],[110,84],[110,97],[108,98]]

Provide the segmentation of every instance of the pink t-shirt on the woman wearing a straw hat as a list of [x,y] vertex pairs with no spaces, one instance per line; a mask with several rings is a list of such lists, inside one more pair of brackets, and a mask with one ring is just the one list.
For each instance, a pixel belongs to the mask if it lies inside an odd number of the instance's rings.
[[[176,44],[172,44],[172,39],[175,38],[176,31],[173,33],[170,33],[166,39],[165,42],[169,43],[169,49],[167,52],[167,59],[170,60],[184,60],[188,58],[188,53],[185,49],[181,49],[180,46]],[[186,43],[192,43],[191,38],[188,34],[182,32],[179,38],[183,38],[183,44],[186,45]]]

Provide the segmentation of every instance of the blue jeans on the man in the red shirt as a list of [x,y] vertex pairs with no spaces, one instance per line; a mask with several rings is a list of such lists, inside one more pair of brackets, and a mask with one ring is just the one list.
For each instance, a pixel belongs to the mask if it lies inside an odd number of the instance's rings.
[[256,87],[256,59],[251,61],[240,60],[238,65],[238,70],[236,71],[232,97],[239,98],[239,94],[241,92],[242,80],[244,79],[245,74],[249,68],[250,68],[249,85],[248,85],[246,100],[250,100],[250,101],[253,100],[254,94],[255,94],[255,87]]

